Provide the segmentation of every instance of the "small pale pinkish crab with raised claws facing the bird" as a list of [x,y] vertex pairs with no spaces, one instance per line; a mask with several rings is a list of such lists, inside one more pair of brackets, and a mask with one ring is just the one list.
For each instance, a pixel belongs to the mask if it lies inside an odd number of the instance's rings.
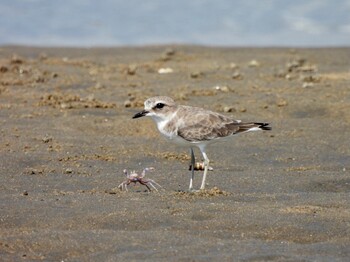
[[123,181],[118,188],[120,188],[121,190],[125,189],[125,191],[128,191],[128,185],[130,185],[131,183],[140,183],[141,185],[144,185],[147,187],[147,189],[149,191],[152,191],[152,189],[154,189],[155,191],[158,191],[158,189],[156,188],[156,186],[158,186],[159,188],[162,188],[161,185],[159,185],[157,182],[155,182],[153,179],[148,179],[145,178],[146,172],[147,171],[152,171],[154,170],[153,167],[146,167],[145,169],[143,169],[141,175],[138,175],[135,170],[133,170],[130,174],[128,173],[128,171],[126,169],[123,170],[124,175],[126,176],[126,180]]

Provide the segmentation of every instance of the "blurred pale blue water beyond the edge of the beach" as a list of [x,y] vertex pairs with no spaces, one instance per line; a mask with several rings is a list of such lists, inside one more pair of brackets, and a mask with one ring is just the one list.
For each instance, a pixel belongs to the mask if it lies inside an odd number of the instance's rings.
[[350,0],[0,0],[0,45],[348,46]]

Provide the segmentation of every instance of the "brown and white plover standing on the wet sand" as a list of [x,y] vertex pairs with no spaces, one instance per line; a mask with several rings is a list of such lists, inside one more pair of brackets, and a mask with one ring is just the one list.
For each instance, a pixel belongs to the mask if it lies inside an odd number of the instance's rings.
[[157,124],[159,132],[176,144],[189,146],[191,150],[192,173],[189,189],[193,190],[194,154],[198,147],[204,158],[204,173],[200,189],[205,188],[209,158],[206,148],[211,143],[248,131],[271,130],[269,123],[242,122],[199,107],[177,105],[166,96],[147,99],[144,110],[133,118],[150,116]]

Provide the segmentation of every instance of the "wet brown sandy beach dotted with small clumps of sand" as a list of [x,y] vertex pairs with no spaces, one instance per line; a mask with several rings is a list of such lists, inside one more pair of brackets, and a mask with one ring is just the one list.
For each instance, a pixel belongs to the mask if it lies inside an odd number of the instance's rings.
[[[0,260],[349,261],[349,57],[2,47]],[[188,193],[188,149],[131,119],[154,95],[273,130],[209,147]],[[117,188],[144,167],[164,190]]]

